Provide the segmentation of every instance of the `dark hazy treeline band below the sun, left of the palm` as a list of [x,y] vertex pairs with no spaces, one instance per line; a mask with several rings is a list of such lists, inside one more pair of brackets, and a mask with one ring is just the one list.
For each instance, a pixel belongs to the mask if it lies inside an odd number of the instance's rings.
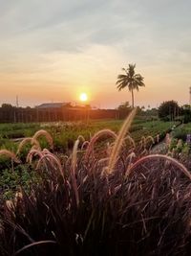
[[80,121],[88,119],[124,119],[129,110],[92,109],[91,107],[0,107],[0,123]]

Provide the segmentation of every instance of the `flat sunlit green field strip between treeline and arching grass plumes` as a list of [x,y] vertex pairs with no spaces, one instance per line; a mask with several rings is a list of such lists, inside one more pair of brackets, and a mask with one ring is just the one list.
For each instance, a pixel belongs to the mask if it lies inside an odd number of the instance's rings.
[[[122,124],[122,120],[98,120],[90,121],[89,123],[0,124],[0,149],[16,151],[18,142],[15,139],[31,137],[35,131],[46,129],[53,136],[55,151],[67,151],[73,148],[74,141],[78,135],[82,135],[86,140],[90,140],[96,131],[110,128],[117,132]],[[160,134],[163,137],[174,124],[172,122],[145,121],[137,118],[130,128],[130,134],[138,143],[142,136],[150,135],[156,137],[157,134]]]

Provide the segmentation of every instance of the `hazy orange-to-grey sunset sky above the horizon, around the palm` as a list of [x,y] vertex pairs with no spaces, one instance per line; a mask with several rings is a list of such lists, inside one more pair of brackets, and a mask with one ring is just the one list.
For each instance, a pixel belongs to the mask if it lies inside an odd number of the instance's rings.
[[145,87],[135,104],[189,103],[189,0],[0,0],[0,105],[131,104],[117,91],[121,68],[136,63]]

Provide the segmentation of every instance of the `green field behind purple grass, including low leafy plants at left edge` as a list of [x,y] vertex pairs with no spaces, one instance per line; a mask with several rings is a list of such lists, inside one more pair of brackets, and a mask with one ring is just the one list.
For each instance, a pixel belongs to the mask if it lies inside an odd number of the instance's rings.
[[[14,163],[14,172],[12,172],[13,163],[5,155],[0,155],[0,186],[4,198],[11,198],[17,191],[18,186],[22,185],[28,189],[29,183],[36,179],[35,172],[31,172],[32,166],[26,163],[26,158],[32,145],[27,143],[23,149],[17,153],[18,146],[22,139],[32,137],[32,135],[41,129],[47,130],[53,137],[53,149],[50,149],[50,144],[46,138],[40,138],[41,149],[51,150],[53,153],[62,157],[69,156],[74,148],[74,142],[78,136],[83,136],[85,141],[90,141],[94,134],[101,129],[111,129],[118,132],[124,121],[122,120],[97,120],[91,121],[88,124],[83,122],[67,122],[67,123],[32,123],[32,124],[1,124],[1,145],[0,150],[9,150],[17,154],[17,157],[22,161],[21,164]],[[161,122],[161,121],[145,121],[135,119],[129,128],[129,133],[134,139],[137,147],[142,141],[142,138],[152,136],[154,142],[148,141],[148,147],[163,139],[165,134],[177,123]],[[95,146],[95,153],[102,151],[102,156],[106,157],[107,142],[112,143],[112,140],[103,136],[98,140]],[[129,147],[130,145],[127,145]]]

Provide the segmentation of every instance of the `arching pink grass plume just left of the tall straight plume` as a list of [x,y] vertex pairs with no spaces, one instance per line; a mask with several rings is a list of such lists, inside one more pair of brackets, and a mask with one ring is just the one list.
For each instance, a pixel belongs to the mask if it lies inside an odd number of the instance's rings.
[[97,131],[95,133],[95,135],[92,137],[92,139],[90,141],[90,144],[88,145],[87,151],[85,153],[85,160],[86,161],[88,160],[90,154],[92,152],[94,152],[94,146],[95,146],[96,141],[100,137],[105,136],[105,135],[110,136],[110,137],[112,137],[114,139],[117,138],[117,134],[113,130],[111,130],[111,129],[101,129],[101,130]]

